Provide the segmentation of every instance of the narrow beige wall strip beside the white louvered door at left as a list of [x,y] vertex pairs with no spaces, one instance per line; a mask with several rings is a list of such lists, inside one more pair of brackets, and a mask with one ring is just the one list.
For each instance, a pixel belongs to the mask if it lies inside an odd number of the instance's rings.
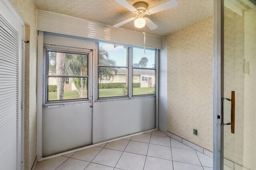
[[36,6],[33,0],[9,0],[25,23],[24,169],[36,158]]

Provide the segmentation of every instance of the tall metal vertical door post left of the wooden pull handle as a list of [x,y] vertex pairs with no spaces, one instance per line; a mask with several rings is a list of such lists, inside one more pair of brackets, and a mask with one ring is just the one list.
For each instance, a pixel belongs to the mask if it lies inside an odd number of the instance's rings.
[[213,170],[223,170],[224,0],[214,0]]

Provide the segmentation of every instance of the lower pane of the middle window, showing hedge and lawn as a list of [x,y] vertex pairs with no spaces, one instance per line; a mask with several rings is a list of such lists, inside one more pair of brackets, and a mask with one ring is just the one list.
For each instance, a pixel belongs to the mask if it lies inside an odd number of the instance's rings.
[[98,97],[118,96],[128,96],[128,68],[99,67]]

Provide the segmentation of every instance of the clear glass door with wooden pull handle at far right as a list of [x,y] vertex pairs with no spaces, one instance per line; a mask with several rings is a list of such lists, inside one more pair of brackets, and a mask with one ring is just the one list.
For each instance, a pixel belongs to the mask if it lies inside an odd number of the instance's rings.
[[256,1],[224,0],[222,11],[222,164],[256,170]]

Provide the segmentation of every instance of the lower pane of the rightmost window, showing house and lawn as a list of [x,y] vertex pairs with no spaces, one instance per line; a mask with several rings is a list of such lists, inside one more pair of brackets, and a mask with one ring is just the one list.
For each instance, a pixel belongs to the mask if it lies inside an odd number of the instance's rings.
[[133,96],[155,94],[155,70],[134,68],[132,93]]

